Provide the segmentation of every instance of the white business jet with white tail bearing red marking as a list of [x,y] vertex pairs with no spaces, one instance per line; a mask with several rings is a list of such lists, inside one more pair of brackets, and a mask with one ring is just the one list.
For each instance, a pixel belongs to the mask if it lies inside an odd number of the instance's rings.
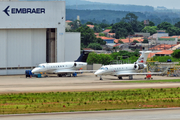
[[106,65],[102,66],[94,74],[100,77],[102,80],[103,75],[117,76],[119,79],[122,77],[129,77],[130,80],[133,79],[133,75],[147,75],[147,74],[161,74],[161,72],[156,73],[138,73],[138,70],[147,68],[146,60],[151,53],[151,51],[140,51],[141,56],[134,64],[117,64],[117,65]]

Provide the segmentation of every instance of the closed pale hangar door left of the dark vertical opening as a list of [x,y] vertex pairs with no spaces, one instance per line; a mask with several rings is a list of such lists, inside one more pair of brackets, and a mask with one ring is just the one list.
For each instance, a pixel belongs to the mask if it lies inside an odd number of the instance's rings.
[[46,29],[6,29],[0,36],[0,74],[46,62]]

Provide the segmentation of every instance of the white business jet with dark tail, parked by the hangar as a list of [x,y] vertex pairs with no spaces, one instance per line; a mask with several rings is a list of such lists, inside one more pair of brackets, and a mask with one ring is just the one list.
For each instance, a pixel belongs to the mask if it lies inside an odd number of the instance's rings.
[[88,54],[92,51],[83,51],[81,56],[75,62],[59,62],[59,63],[43,63],[34,68],[31,72],[37,73],[53,73],[59,77],[63,76],[76,76],[76,73],[83,72],[82,67],[86,66],[86,59]]

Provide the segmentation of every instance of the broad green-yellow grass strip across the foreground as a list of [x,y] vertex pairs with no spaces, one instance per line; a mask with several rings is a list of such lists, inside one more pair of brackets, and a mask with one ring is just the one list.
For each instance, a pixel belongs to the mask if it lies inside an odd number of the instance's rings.
[[180,107],[180,88],[0,95],[0,114]]

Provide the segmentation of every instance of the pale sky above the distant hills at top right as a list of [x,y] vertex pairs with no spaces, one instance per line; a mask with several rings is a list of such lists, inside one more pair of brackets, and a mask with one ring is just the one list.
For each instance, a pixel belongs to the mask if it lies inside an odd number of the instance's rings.
[[168,9],[180,9],[180,0],[86,0],[91,2],[149,5],[153,7],[164,6]]

